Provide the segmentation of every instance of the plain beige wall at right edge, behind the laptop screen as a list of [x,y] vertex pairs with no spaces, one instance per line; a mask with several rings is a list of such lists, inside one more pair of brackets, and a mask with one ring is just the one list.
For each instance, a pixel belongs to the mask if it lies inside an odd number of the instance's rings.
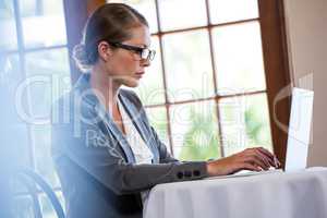
[[327,167],[327,0],[284,0],[284,8],[293,82],[315,92],[308,166]]

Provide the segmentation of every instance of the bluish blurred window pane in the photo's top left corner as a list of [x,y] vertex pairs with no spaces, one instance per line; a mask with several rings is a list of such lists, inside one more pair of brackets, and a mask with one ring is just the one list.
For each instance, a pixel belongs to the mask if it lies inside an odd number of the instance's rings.
[[0,1],[0,52],[17,48],[15,25],[13,1]]

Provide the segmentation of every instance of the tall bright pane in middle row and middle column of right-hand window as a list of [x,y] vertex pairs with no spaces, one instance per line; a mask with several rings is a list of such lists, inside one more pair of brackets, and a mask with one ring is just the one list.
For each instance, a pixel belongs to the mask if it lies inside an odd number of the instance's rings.
[[214,95],[207,31],[166,35],[164,53],[170,101]]

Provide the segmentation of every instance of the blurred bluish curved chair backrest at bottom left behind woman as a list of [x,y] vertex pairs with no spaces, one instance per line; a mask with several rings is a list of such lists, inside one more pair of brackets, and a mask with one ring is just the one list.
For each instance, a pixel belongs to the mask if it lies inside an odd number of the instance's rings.
[[[37,186],[46,194],[49,198],[58,218],[64,218],[64,211],[61,207],[61,204],[52,191],[51,186],[36,172],[31,169],[19,169],[16,170],[15,178],[19,178],[20,181],[26,186],[29,193],[35,193]],[[36,218],[41,218],[41,209],[39,202],[35,195],[32,195],[33,204],[34,204],[34,214]]]

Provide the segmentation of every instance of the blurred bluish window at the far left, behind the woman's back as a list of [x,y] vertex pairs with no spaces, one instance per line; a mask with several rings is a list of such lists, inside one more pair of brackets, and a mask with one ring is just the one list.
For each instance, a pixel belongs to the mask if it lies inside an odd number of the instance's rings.
[[[0,81],[9,90],[8,142],[17,165],[31,167],[53,187],[60,199],[59,180],[50,157],[50,107],[71,88],[63,2],[58,0],[3,0],[0,3]],[[14,133],[14,135],[13,135]],[[8,144],[9,146],[9,144]],[[16,184],[19,217],[28,217],[32,198]],[[44,215],[52,208],[40,192]],[[63,204],[62,204],[63,205]]]

